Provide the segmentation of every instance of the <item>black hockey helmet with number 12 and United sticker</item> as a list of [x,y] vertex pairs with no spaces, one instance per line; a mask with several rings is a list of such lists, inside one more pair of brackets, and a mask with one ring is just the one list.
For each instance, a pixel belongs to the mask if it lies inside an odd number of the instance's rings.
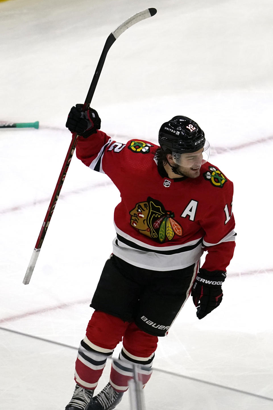
[[162,150],[171,153],[191,153],[205,145],[205,134],[199,125],[188,117],[177,115],[162,124],[158,134]]

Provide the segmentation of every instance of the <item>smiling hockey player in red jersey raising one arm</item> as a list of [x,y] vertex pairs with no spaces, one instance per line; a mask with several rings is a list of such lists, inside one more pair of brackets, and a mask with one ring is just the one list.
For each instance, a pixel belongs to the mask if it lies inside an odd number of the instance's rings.
[[[162,124],[160,147],[113,141],[94,109],[72,107],[66,127],[79,134],[76,155],[106,173],[120,191],[113,253],[91,307],[95,309],[76,360],[74,394],[66,410],[111,410],[140,364],[144,386],[158,337],[165,336],[190,292],[202,319],[222,301],[222,283],[235,248],[233,185],[207,162],[209,144],[185,116]],[[207,251],[205,262],[199,260]],[[93,397],[107,358],[122,340],[110,381]]]

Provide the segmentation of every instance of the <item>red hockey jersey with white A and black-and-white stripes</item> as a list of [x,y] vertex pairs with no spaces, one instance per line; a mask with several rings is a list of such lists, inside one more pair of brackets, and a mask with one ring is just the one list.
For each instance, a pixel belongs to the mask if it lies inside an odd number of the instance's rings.
[[148,141],[113,141],[102,131],[78,138],[76,155],[120,191],[113,253],[157,271],[181,269],[208,251],[203,268],[226,271],[235,248],[233,184],[209,162],[198,178],[168,177]]

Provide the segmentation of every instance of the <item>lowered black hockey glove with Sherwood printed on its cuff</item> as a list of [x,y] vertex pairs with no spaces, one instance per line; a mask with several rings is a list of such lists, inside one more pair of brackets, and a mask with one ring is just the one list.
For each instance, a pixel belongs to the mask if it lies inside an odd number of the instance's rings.
[[203,319],[215,307],[219,306],[222,298],[222,283],[226,278],[224,271],[207,271],[199,269],[192,286],[192,299],[197,307],[196,316]]

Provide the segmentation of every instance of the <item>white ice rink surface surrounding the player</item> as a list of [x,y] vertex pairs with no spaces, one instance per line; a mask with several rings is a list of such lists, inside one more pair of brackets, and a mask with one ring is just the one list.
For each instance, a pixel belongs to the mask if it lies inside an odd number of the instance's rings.
[[[211,162],[234,182],[238,234],[223,303],[199,321],[189,300],[154,366],[268,399],[156,370],[146,407],[273,408],[272,2],[10,0],[0,2],[0,121],[40,128],[0,130],[1,409],[63,410],[72,395],[115,236],[120,197],[106,175],[73,157],[32,280],[22,281],[70,144],[69,109],[85,100],[108,34],[147,7],[158,13],[114,43],[91,105],[121,142],[156,143],[174,115],[197,121]],[[119,408],[128,406],[127,395]]]

